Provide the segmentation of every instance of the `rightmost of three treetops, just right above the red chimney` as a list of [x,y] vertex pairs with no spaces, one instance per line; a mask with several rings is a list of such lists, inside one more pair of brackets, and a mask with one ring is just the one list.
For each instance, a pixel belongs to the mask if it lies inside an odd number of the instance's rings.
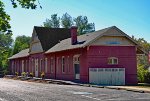
[[74,19],[74,22],[78,27],[79,35],[95,31],[94,23],[88,23],[87,16],[78,16]]

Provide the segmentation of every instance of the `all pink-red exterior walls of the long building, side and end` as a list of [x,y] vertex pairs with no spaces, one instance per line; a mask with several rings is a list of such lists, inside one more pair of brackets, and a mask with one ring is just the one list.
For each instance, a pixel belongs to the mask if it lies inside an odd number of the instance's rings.
[[[80,49],[72,49],[67,51],[55,52],[50,54],[33,54],[27,58],[18,58],[15,61],[15,70],[21,74],[21,61],[28,61],[27,71],[33,73],[35,67],[32,66],[32,59],[44,60],[47,58],[47,72],[46,78],[75,80],[75,72],[73,66],[73,56],[80,54],[80,81],[84,83],[89,82],[89,68],[125,68],[125,82],[126,84],[137,84],[137,66],[136,66],[136,47],[135,46],[89,46]],[[65,73],[62,73],[61,59],[65,58]],[[69,56],[69,68],[67,58]],[[108,57],[117,57],[118,65],[108,65]],[[50,71],[51,58],[53,58],[53,72]],[[57,67],[57,58],[58,67]],[[29,63],[30,62],[30,63]],[[29,65],[30,64],[30,65]],[[40,70],[40,62],[38,62],[38,69]],[[26,72],[27,72],[26,71]],[[45,71],[45,61],[42,62],[42,71]],[[39,77],[41,71],[39,71]]]

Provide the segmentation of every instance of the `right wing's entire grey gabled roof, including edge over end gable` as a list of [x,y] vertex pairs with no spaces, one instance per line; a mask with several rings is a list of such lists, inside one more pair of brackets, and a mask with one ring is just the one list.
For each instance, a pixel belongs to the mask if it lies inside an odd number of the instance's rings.
[[[95,42],[97,39],[99,39],[102,36],[109,35],[107,33],[108,31],[111,31],[111,29],[115,29],[121,33],[121,36],[125,36],[127,39],[129,39],[132,43],[134,43],[137,47],[139,47],[138,43],[135,42],[130,36],[125,34],[123,31],[121,31],[119,28],[116,26],[108,27],[99,31],[95,31],[92,33],[80,35],[77,37],[78,43],[75,45],[71,44],[71,38],[65,39],[60,41],[60,43],[56,44],[54,47],[50,48],[48,51],[45,53],[51,53],[51,52],[58,52],[58,51],[63,51],[63,50],[70,50],[70,49],[75,49],[75,48],[84,48],[86,46],[89,46],[93,42]],[[138,48],[140,49],[140,48]],[[141,50],[141,49],[140,49]],[[143,53],[144,51],[141,50]]]

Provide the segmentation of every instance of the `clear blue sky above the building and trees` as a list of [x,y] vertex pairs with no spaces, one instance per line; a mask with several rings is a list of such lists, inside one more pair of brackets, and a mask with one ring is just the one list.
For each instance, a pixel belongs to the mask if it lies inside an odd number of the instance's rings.
[[11,16],[13,38],[31,36],[34,26],[41,26],[52,14],[68,13],[73,18],[87,16],[95,29],[117,26],[129,36],[150,42],[150,0],[39,0],[36,10],[13,8],[10,0],[2,0]]

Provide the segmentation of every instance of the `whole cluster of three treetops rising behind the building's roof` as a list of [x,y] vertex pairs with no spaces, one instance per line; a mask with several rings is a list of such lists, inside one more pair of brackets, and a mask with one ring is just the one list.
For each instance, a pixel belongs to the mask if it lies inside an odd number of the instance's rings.
[[70,28],[76,25],[78,27],[78,35],[95,31],[95,24],[89,23],[87,16],[78,16],[73,19],[68,13],[63,14],[61,19],[57,17],[57,14],[52,14],[51,19],[46,19],[43,24],[44,27],[60,28],[60,23],[63,28]]

